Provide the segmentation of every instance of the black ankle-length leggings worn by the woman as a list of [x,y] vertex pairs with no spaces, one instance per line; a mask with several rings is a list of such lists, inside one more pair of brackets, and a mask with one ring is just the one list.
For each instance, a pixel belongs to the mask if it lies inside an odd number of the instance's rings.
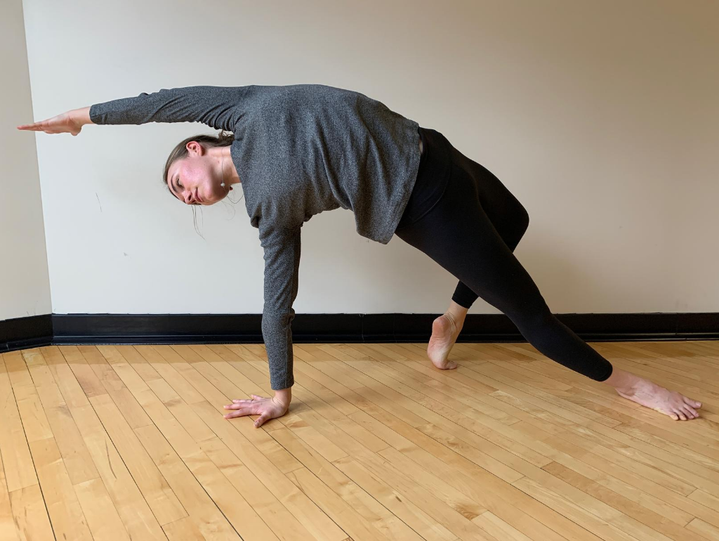
[[607,379],[611,363],[549,312],[513,254],[529,224],[526,209],[440,132],[419,132],[417,181],[395,235],[459,279],[454,302],[469,308],[481,296],[542,354],[595,381]]

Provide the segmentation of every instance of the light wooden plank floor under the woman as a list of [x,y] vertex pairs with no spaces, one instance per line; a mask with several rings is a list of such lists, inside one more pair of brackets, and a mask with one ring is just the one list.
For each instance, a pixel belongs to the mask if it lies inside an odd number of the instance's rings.
[[592,342],[673,421],[528,344],[50,346],[0,362],[0,539],[719,540],[719,342]]

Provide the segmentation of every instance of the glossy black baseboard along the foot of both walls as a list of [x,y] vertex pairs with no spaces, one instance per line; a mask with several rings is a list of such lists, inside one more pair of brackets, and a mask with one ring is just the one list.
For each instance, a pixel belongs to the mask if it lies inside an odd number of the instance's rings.
[[[293,342],[428,342],[439,314],[297,314]],[[587,342],[719,340],[719,314],[555,314]],[[44,345],[262,343],[262,314],[45,314],[0,321],[0,353]],[[504,314],[469,314],[457,342],[526,342]]]

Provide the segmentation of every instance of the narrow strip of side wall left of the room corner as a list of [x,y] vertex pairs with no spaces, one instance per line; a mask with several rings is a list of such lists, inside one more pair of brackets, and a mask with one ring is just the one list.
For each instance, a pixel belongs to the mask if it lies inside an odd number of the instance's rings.
[[0,6],[0,321],[51,314],[22,1]]

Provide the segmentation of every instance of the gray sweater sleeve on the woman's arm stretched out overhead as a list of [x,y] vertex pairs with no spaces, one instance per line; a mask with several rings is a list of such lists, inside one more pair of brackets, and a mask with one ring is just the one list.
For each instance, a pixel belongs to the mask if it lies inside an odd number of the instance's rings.
[[202,122],[215,129],[234,130],[251,86],[186,86],[162,88],[139,96],[114,99],[90,107],[95,124]]

